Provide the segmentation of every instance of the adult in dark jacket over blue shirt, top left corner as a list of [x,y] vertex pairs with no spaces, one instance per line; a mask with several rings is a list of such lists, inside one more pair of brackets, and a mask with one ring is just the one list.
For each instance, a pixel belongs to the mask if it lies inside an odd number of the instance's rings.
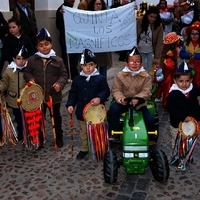
[[24,34],[30,38],[32,44],[35,46],[38,28],[35,14],[29,7],[27,0],[16,0],[16,4],[11,8],[11,11],[13,11],[13,16],[20,21]]

